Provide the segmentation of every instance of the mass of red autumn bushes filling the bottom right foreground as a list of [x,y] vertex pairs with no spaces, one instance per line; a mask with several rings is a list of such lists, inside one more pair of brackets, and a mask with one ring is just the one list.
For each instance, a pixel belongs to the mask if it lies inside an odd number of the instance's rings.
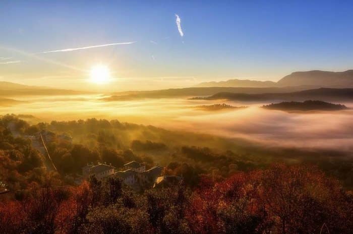
[[314,166],[275,165],[198,190],[187,218],[197,233],[244,231],[244,220],[257,224],[256,232],[317,233],[326,223],[331,232],[349,233],[352,198]]

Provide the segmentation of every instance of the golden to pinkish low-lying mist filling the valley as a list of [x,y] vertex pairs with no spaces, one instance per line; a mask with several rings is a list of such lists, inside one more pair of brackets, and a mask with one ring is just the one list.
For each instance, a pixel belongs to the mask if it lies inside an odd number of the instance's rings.
[[[21,97],[27,101],[3,106],[0,114],[31,114],[27,121],[50,122],[87,118],[117,119],[165,129],[244,138],[268,146],[353,151],[352,109],[284,112],[261,108],[259,102],[188,100],[187,98],[102,101],[102,95]],[[226,103],[248,108],[207,111],[199,105]],[[353,103],[345,104],[348,108]]]

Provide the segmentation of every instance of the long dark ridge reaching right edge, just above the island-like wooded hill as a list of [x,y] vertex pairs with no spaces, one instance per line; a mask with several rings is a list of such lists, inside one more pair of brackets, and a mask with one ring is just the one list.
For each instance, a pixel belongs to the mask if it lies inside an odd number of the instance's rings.
[[349,89],[333,89],[320,88],[310,89],[298,92],[285,93],[229,93],[220,92],[208,97],[194,97],[191,99],[203,100],[237,100],[237,101],[269,101],[269,100],[289,100],[289,101],[304,101],[308,99],[314,100],[353,100],[353,88]]

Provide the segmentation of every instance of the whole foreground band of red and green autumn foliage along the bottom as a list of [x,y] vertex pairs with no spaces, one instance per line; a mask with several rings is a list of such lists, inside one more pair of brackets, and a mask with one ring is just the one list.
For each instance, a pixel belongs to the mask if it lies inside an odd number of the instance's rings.
[[[274,165],[136,194],[91,178],[0,204],[2,233],[352,233],[353,198],[314,166]],[[323,228],[322,228],[323,227]],[[327,228],[326,228],[327,227]]]

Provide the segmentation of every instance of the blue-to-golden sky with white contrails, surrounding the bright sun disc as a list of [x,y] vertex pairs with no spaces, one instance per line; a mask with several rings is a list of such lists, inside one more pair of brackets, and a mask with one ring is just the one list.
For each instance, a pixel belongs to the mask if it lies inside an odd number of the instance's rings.
[[[351,1],[2,0],[0,81],[120,91],[345,71],[352,9]],[[91,82],[96,66],[109,82]]]

